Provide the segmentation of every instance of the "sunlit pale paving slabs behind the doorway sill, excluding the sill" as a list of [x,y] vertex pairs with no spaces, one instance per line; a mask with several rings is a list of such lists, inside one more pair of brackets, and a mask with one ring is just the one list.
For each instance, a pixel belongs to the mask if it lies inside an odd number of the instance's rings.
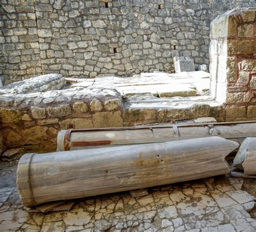
[[[78,79],[79,80],[79,79]],[[157,97],[196,96],[208,94],[210,74],[203,71],[181,73],[142,73],[130,78],[97,76],[80,79],[71,87],[104,87],[116,89],[121,95],[152,94]]]

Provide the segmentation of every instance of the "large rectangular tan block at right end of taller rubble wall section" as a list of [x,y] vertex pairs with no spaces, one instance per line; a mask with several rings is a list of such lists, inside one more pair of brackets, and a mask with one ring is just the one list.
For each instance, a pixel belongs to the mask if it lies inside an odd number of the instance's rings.
[[102,112],[92,115],[93,128],[107,128],[123,126],[123,118],[121,111],[116,112]]

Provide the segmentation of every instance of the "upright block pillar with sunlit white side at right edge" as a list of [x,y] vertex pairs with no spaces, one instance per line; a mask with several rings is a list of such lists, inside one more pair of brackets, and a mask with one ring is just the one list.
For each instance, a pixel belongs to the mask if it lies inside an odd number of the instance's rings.
[[233,10],[212,22],[211,94],[226,121],[256,119],[256,9]]

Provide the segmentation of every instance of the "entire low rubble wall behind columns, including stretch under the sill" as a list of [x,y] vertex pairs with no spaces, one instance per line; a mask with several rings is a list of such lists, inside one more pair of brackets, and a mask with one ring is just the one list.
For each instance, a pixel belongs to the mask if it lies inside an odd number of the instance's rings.
[[[213,116],[221,107],[207,103],[182,109],[132,109],[114,90],[72,88],[45,93],[0,96],[3,149],[56,150],[61,129],[109,128]],[[219,117],[220,118],[220,117]]]

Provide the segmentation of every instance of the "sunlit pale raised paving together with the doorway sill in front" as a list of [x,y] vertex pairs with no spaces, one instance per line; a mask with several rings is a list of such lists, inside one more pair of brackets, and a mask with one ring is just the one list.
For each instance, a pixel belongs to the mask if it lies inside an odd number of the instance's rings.
[[203,71],[181,73],[141,73],[130,78],[96,76],[95,79],[66,78],[65,88],[102,87],[117,91],[129,109],[187,109],[195,104],[219,107],[209,95],[210,74]]

